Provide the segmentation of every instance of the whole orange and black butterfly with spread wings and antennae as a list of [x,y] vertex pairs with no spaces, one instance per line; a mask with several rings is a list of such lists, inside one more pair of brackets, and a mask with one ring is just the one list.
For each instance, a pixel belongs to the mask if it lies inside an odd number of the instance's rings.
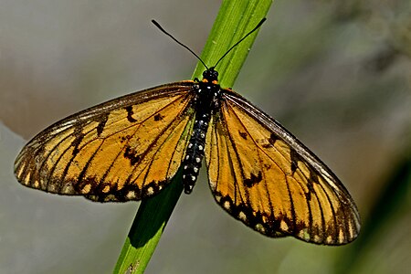
[[158,194],[180,168],[190,194],[205,158],[216,202],[248,227],[315,244],[353,241],[360,216],[340,180],[278,121],[220,87],[216,66],[205,68],[202,80],[138,91],[54,123],[17,156],[17,180],[125,202]]

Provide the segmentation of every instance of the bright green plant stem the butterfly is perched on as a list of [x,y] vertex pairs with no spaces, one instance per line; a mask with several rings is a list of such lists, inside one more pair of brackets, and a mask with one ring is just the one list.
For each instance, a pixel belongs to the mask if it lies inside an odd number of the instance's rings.
[[[216,64],[227,49],[267,15],[271,0],[223,1],[201,58],[208,67]],[[200,12],[200,11],[196,11]],[[232,87],[240,68],[248,56],[257,32],[235,47],[217,66],[219,82]],[[201,63],[195,68],[194,78],[201,79],[205,70]],[[154,249],[183,191],[181,172],[159,195],[142,201],[132,228],[121,250],[114,273],[142,273],[147,267]]]

